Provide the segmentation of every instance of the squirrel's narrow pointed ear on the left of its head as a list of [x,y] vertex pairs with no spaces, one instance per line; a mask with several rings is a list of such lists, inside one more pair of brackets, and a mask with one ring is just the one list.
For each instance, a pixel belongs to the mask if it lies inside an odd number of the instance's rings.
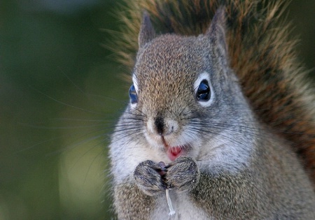
[[146,43],[150,42],[155,38],[155,30],[152,26],[150,16],[146,11],[142,17],[141,29],[138,37],[139,48],[144,46]]

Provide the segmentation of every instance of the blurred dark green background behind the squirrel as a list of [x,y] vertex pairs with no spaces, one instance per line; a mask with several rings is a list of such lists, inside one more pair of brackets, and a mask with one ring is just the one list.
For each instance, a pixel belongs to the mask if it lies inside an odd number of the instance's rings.
[[[111,219],[106,145],[129,85],[102,45],[118,3],[0,1],[1,220]],[[288,9],[314,68],[315,1]]]

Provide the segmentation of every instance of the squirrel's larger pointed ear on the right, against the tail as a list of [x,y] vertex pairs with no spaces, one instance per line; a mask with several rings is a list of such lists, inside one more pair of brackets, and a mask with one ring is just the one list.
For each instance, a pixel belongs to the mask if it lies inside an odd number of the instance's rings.
[[221,55],[226,57],[228,49],[225,43],[225,8],[223,6],[216,10],[205,36],[218,47],[218,51],[222,53]]

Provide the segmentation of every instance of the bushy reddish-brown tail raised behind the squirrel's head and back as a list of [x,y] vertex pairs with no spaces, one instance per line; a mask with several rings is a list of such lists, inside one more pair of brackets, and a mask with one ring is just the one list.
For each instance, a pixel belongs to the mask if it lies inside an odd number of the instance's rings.
[[157,33],[204,33],[225,6],[230,64],[258,118],[292,144],[315,183],[315,92],[297,61],[289,26],[279,20],[283,1],[126,0],[118,43],[120,62],[131,69],[144,10]]

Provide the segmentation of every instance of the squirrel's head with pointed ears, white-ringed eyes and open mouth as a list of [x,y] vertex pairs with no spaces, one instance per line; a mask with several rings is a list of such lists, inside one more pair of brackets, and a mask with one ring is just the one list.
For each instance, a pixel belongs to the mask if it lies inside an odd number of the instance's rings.
[[155,36],[144,13],[130,111],[144,121],[149,144],[166,149],[169,159],[197,156],[202,137],[209,140],[224,129],[218,123],[230,123],[238,100],[232,94],[241,93],[228,67],[224,9],[200,36]]

